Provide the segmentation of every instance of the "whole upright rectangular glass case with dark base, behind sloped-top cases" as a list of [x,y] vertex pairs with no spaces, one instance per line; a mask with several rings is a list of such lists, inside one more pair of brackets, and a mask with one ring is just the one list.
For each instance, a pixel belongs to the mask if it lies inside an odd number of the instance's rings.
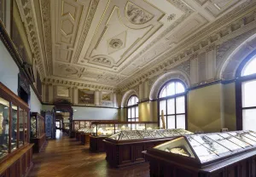
[[120,131],[156,128],[158,128],[157,122],[93,122],[91,123],[90,151],[105,151],[105,143],[102,140]]

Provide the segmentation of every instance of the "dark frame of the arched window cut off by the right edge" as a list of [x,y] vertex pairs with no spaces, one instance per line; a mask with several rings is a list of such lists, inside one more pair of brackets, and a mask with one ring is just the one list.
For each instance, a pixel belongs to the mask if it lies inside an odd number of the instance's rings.
[[[248,109],[256,109],[256,106],[251,107],[242,107],[242,83],[255,80],[256,79],[256,73],[247,75],[247,76],[241,76],[242,71],[245,66],[247,66],[247,63],[253,60],[253,58],[256,58],[256,50],[254,50],[251,54],[248,54],[247,57],[241,61],[240,66],[238,66],[236,70],[236,129],[242,130],[242,111],[248,110]],[[256,60],[256,59],[255,59]]]

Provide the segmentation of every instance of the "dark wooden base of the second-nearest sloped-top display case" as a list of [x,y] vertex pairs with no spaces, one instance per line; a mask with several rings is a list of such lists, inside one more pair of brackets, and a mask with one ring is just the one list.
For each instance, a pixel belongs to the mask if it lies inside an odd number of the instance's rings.
[[[172,140],[172,138],[168,140]],[[124,142],[104,140],[107,155],[106,160],[115,168],[144,163],[145,157],[142,151],[146,151],[149,148],[160,145],[168,140],[131,140]]]

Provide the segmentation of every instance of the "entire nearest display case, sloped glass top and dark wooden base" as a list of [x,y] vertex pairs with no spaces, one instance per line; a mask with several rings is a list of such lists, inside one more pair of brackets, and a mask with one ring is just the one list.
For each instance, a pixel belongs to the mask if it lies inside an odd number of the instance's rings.
[[143,153],[151,176],[242,177],[256,176],[255,150],[256,132],[234,131],[184,135]]

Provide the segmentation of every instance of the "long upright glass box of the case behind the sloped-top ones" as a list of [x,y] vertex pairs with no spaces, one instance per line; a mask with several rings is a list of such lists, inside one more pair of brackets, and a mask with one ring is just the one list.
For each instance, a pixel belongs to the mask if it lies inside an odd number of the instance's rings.
[[[153,130],[157,129],[157,122],[93,122],[91,123],[92,136],[110,136],[127,130]],[[133,131],[134,132],[134,131]],[[136,134],[136,132],[134,132]]]

